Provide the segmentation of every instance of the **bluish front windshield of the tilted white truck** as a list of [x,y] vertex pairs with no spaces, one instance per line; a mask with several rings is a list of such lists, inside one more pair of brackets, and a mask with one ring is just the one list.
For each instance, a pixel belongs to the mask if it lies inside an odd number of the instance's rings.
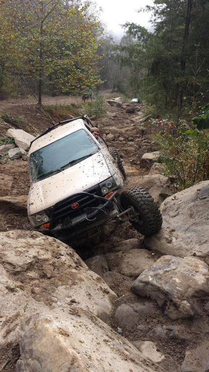
[[34,151],[30,156],[30,170],[33,180],[44,178],[65,166],[81,161],[97,151],[93,139],[80,129],[58,141]]

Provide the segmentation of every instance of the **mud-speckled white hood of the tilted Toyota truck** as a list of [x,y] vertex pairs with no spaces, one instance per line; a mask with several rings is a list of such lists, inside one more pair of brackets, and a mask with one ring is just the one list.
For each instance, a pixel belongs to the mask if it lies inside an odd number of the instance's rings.
[[32,183],[28,199],[29,214],[43,211],[102,182],[115,173],[110,169],[102,153],[96,152],[59,173]]

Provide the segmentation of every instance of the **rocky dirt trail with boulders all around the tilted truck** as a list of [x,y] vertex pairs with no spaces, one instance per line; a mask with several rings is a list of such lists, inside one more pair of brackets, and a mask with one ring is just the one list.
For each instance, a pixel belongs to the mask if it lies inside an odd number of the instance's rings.
[[[144,238],[111,223],[80,258],[30,231],[27,161],[2,156],[0,371],[209,370],[209,181],[173,195],[143,106],[111,105],[93,122],[122,156],[125,187],[140,185],[160,205],[162,229]],[[37,105],[3,106],[24,112],[31,134],[49,125]],[[2,124],[2,138],[12,126]]]

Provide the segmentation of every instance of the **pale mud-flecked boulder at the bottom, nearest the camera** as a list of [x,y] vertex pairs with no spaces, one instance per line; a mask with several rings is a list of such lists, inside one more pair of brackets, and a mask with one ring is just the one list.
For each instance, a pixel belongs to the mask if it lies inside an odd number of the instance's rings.
[[[16,372],[163,372],[89,313],[52,311],[28,320]],[[23,324],[23,327],[25,324]]]

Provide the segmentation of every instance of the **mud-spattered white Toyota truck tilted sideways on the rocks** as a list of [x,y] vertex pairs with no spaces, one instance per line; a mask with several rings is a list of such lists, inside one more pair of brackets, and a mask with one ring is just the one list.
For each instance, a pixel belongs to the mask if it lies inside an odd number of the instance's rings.
[[143,235],[156,233],[162,216],[147,191],[118,191],[126,177],[121,158],[91,134],[87,116],[48,128],[31,144],[28,216],[34,230],[78,246],[117,219]]

